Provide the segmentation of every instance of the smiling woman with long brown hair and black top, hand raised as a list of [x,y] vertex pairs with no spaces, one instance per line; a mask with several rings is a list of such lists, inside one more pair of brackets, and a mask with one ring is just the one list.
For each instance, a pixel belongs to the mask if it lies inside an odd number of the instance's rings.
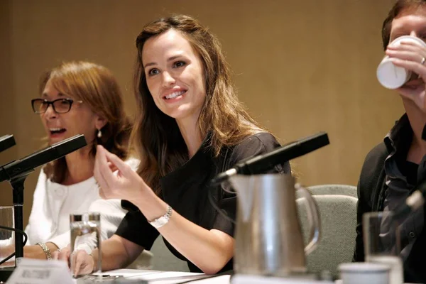
[[[126,266],[159,234],[190,271],[231,269],[234,226],[223,214],[234,217],[236,197],[209,188],[209,181],[279,144],[241,105],[219,41],[194,18],[153,21],[136,46],[138,173],[102,146],[94,167],[105,197],[133,204],[116,234],[102,244],[102,270]],[[274,170],[289,171],[288,164]],[[209,203],[209,191],[223,214]],[[92,272],[97,258],[98,251],[77,253],[72,272]]]

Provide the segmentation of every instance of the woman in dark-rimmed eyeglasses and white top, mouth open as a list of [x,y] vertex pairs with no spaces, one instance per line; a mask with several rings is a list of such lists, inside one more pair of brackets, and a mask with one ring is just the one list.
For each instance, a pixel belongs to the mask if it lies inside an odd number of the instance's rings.
[[119,85],[107,68],[90,62],[63,63],[41,77],[39,93],[31,103],[48,143],[77,134],[84,134],[87,141],[86,147],[40,171],[24,257],[50,259],[54,251],[70,244],[70,213],[100,212],[102,239],[114,234],[126,213],[119,200],[99,197],[93,178],[97,145],[119,155],[133,169],[138,160],[128,158],[131,124]]

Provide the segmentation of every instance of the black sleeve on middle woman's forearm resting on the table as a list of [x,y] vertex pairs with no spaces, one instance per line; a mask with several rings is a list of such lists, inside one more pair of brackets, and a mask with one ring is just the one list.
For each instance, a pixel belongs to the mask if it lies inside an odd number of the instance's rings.
[[142,212],[132,205],[126,200],[121,202],[121,206],[129,209],[129,212],[121,220],[115,234],[142,246],[143,249],[150,250],[160,233],[148,223]]

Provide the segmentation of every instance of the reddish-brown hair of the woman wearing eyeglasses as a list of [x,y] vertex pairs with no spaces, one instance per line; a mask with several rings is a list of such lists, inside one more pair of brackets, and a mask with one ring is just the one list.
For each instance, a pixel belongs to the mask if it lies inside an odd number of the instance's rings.
[[[90,155],[96,155],[96,146],[99,144],[120,158],[127,158],[131,122],[124,111],[119,84],[111,71],[92,62],[63,62],[43,73],[40,77],[39,94],[43,93],[48,81],[58,92],[82,100],[95,114],[107,120],[107,124],[101,129],[102,137],[94,135]],[[97,132],[96,129],[94,131]],[[88,144],[91,142],[87,141]],[[50,180],[62,182],[67,173],[65,158],[48,163],[43,170]]]

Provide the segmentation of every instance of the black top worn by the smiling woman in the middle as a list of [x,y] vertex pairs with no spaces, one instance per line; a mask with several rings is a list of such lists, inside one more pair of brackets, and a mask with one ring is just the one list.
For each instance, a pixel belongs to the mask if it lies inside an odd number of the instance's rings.
[[[187,163],[160,179],[160,197],[175,212],[191,222],[208,230],[218,229],[229,236],[234,236],[234,224],[212,207],[208,194],[210,191],[217,206],[231,219],[235,219],[236,196],[224,192],[219,186],[209,188],[209,182],[218,173],[228,170],[239,161],[268,153],[274,148],[278,148],[280,144],[270,133],[257,133],[246,138],[237,146],[223,148],[221,154],[214,157],[208,143],[207,138]],[[288,163],[283,166],[278,165],[271,170],[271,173],[290,173],[290,165]],[[139,210],[133,210],[129,211],[121,221],[116,234],[149,250],[159,233]],[[175,256],[187,261],[190,271],[201,272],[200,268],[176,251],[168,241],[164,239],[164,242]],[[229,261],[222,271],[230,269],[232,269],[232,261]]]

